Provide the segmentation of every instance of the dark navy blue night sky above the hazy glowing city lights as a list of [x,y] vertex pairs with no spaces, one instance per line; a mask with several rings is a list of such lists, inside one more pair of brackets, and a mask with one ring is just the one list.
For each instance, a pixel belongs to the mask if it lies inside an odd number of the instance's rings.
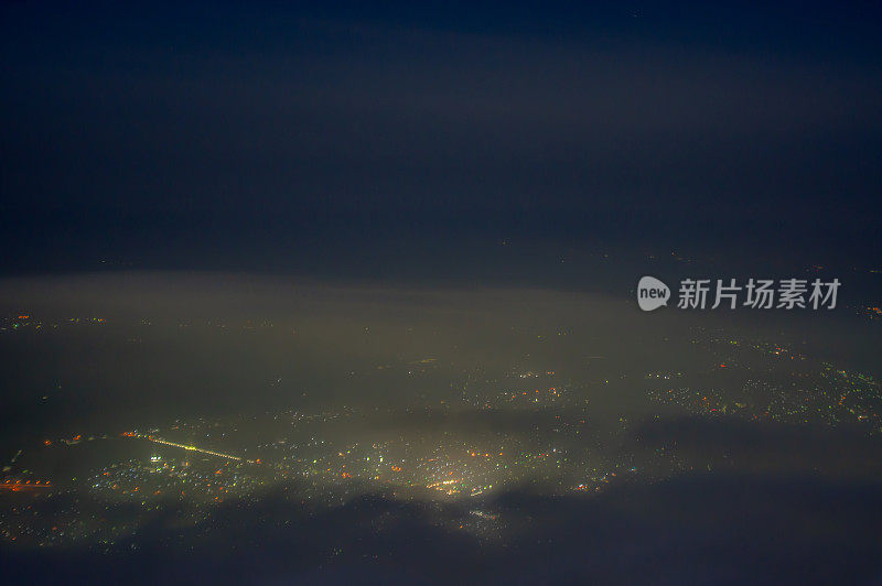
[[878,4],[363,4],[4,3],[0,270],[878,260]]

